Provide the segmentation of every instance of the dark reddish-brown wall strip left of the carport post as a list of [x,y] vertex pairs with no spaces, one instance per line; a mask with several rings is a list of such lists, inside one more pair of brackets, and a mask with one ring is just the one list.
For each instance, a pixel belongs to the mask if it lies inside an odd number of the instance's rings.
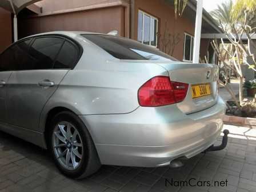
[[11,14],[0,8],[0,53],[12,42]]

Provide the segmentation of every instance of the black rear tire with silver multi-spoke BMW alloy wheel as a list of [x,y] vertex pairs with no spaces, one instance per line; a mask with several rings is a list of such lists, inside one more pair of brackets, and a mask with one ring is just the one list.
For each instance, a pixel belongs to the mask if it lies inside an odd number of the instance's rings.
[[77,115],[70,111],[58,113],[50,128],[49,149],[62,174],[81,179],[101,167],[93,139]]

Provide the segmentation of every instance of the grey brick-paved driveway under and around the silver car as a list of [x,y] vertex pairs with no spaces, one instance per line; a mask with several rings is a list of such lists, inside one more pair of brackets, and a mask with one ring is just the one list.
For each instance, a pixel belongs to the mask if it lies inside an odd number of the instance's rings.
[[[233,133],[226,150],[199,154],[181,169],[102,166],[81,181],[59,174],[47,151],[0,132],[0,191],[256,191],[256,129],[225,129]],[[225,187],[202,186],[226,179]],[[181,187],[178,181],[198,186]]]

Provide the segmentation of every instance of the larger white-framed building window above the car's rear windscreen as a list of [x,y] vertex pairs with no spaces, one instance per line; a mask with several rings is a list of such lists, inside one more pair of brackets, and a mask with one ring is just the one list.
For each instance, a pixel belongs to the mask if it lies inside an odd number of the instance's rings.
[[146,45],[157,46],[158,19],[139,11],[138,41]]

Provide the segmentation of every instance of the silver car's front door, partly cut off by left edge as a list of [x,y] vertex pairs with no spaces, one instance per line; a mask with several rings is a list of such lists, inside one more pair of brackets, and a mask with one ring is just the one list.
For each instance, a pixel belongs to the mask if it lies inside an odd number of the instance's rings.
[[0,55],[0,122],[7,121],[7,84],[14,64],[12,47]]

